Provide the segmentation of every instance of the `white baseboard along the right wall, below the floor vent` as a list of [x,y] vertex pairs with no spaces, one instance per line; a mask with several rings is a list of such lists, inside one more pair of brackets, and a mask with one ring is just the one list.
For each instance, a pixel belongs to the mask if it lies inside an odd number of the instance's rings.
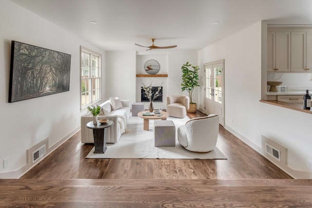
[[271,158],[267,157],[266,153],[262,148],[255,145],[253,142],[239,134],[238,132],[235,132],[233,129],[231,129],[229,126],[225,125],[225,129],[229,132],[231,132],[234,136],[236,136],[238,139],[243,141],[245,144],[247,144],[249,147],[253,148],[255,151],[260,153],[262,156],[267,158],[270,162],[272,162],[274,165],[276,165],[281,170],[285,171],[287,174],[292,176],[294,179],[312,179],[312,172],[306,172],[306,171],[299,171],[299,170],[293,170],[286,164],[278,164],[275,161],[273,161]]

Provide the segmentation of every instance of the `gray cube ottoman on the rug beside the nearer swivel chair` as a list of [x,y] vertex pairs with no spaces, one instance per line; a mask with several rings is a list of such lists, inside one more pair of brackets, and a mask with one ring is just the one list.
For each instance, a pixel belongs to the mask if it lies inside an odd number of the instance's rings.
[[154,121],[155,147],[176,146],[176,126],[171,120]]

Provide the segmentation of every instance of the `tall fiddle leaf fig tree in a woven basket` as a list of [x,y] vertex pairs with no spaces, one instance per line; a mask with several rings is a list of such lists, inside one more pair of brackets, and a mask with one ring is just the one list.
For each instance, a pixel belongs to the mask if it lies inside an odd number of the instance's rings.
[[[192,69],[189,69],[189,67],[192,67]],[[198,70],[199,66],[192,66],[192,64],[189,64],[189,62],[186,62],[185,64],[182,65],[182,92],[184,90],[187,90],[189,92],[189,97],[190,97],[190,108],[187,110],[187,112],[190,113],[195,113],[197,106],[196,103],[193,102],[192,100],[192,94],[193,90],[196,86],[199,86],[198,80],[199,80],[199,75],[198,75]]]

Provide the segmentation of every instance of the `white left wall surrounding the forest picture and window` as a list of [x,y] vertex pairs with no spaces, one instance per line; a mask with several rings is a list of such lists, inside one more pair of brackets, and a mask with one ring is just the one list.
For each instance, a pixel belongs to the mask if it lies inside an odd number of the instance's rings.
[[[48,137],[49,153],[80,129],[80,45],[102,54],[102,66],[105,52],[9,0],[0,2],[0,25],[0,178],[18,178],[31,168],[27,149]],[[12,40],[70,54],[69,92],[8,103]]]

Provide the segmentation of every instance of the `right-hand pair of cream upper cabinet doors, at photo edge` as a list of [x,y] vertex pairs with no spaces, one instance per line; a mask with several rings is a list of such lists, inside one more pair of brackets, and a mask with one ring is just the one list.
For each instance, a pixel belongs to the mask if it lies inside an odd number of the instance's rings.
[[291,71],[312,73],[312,32],[291,33]]

